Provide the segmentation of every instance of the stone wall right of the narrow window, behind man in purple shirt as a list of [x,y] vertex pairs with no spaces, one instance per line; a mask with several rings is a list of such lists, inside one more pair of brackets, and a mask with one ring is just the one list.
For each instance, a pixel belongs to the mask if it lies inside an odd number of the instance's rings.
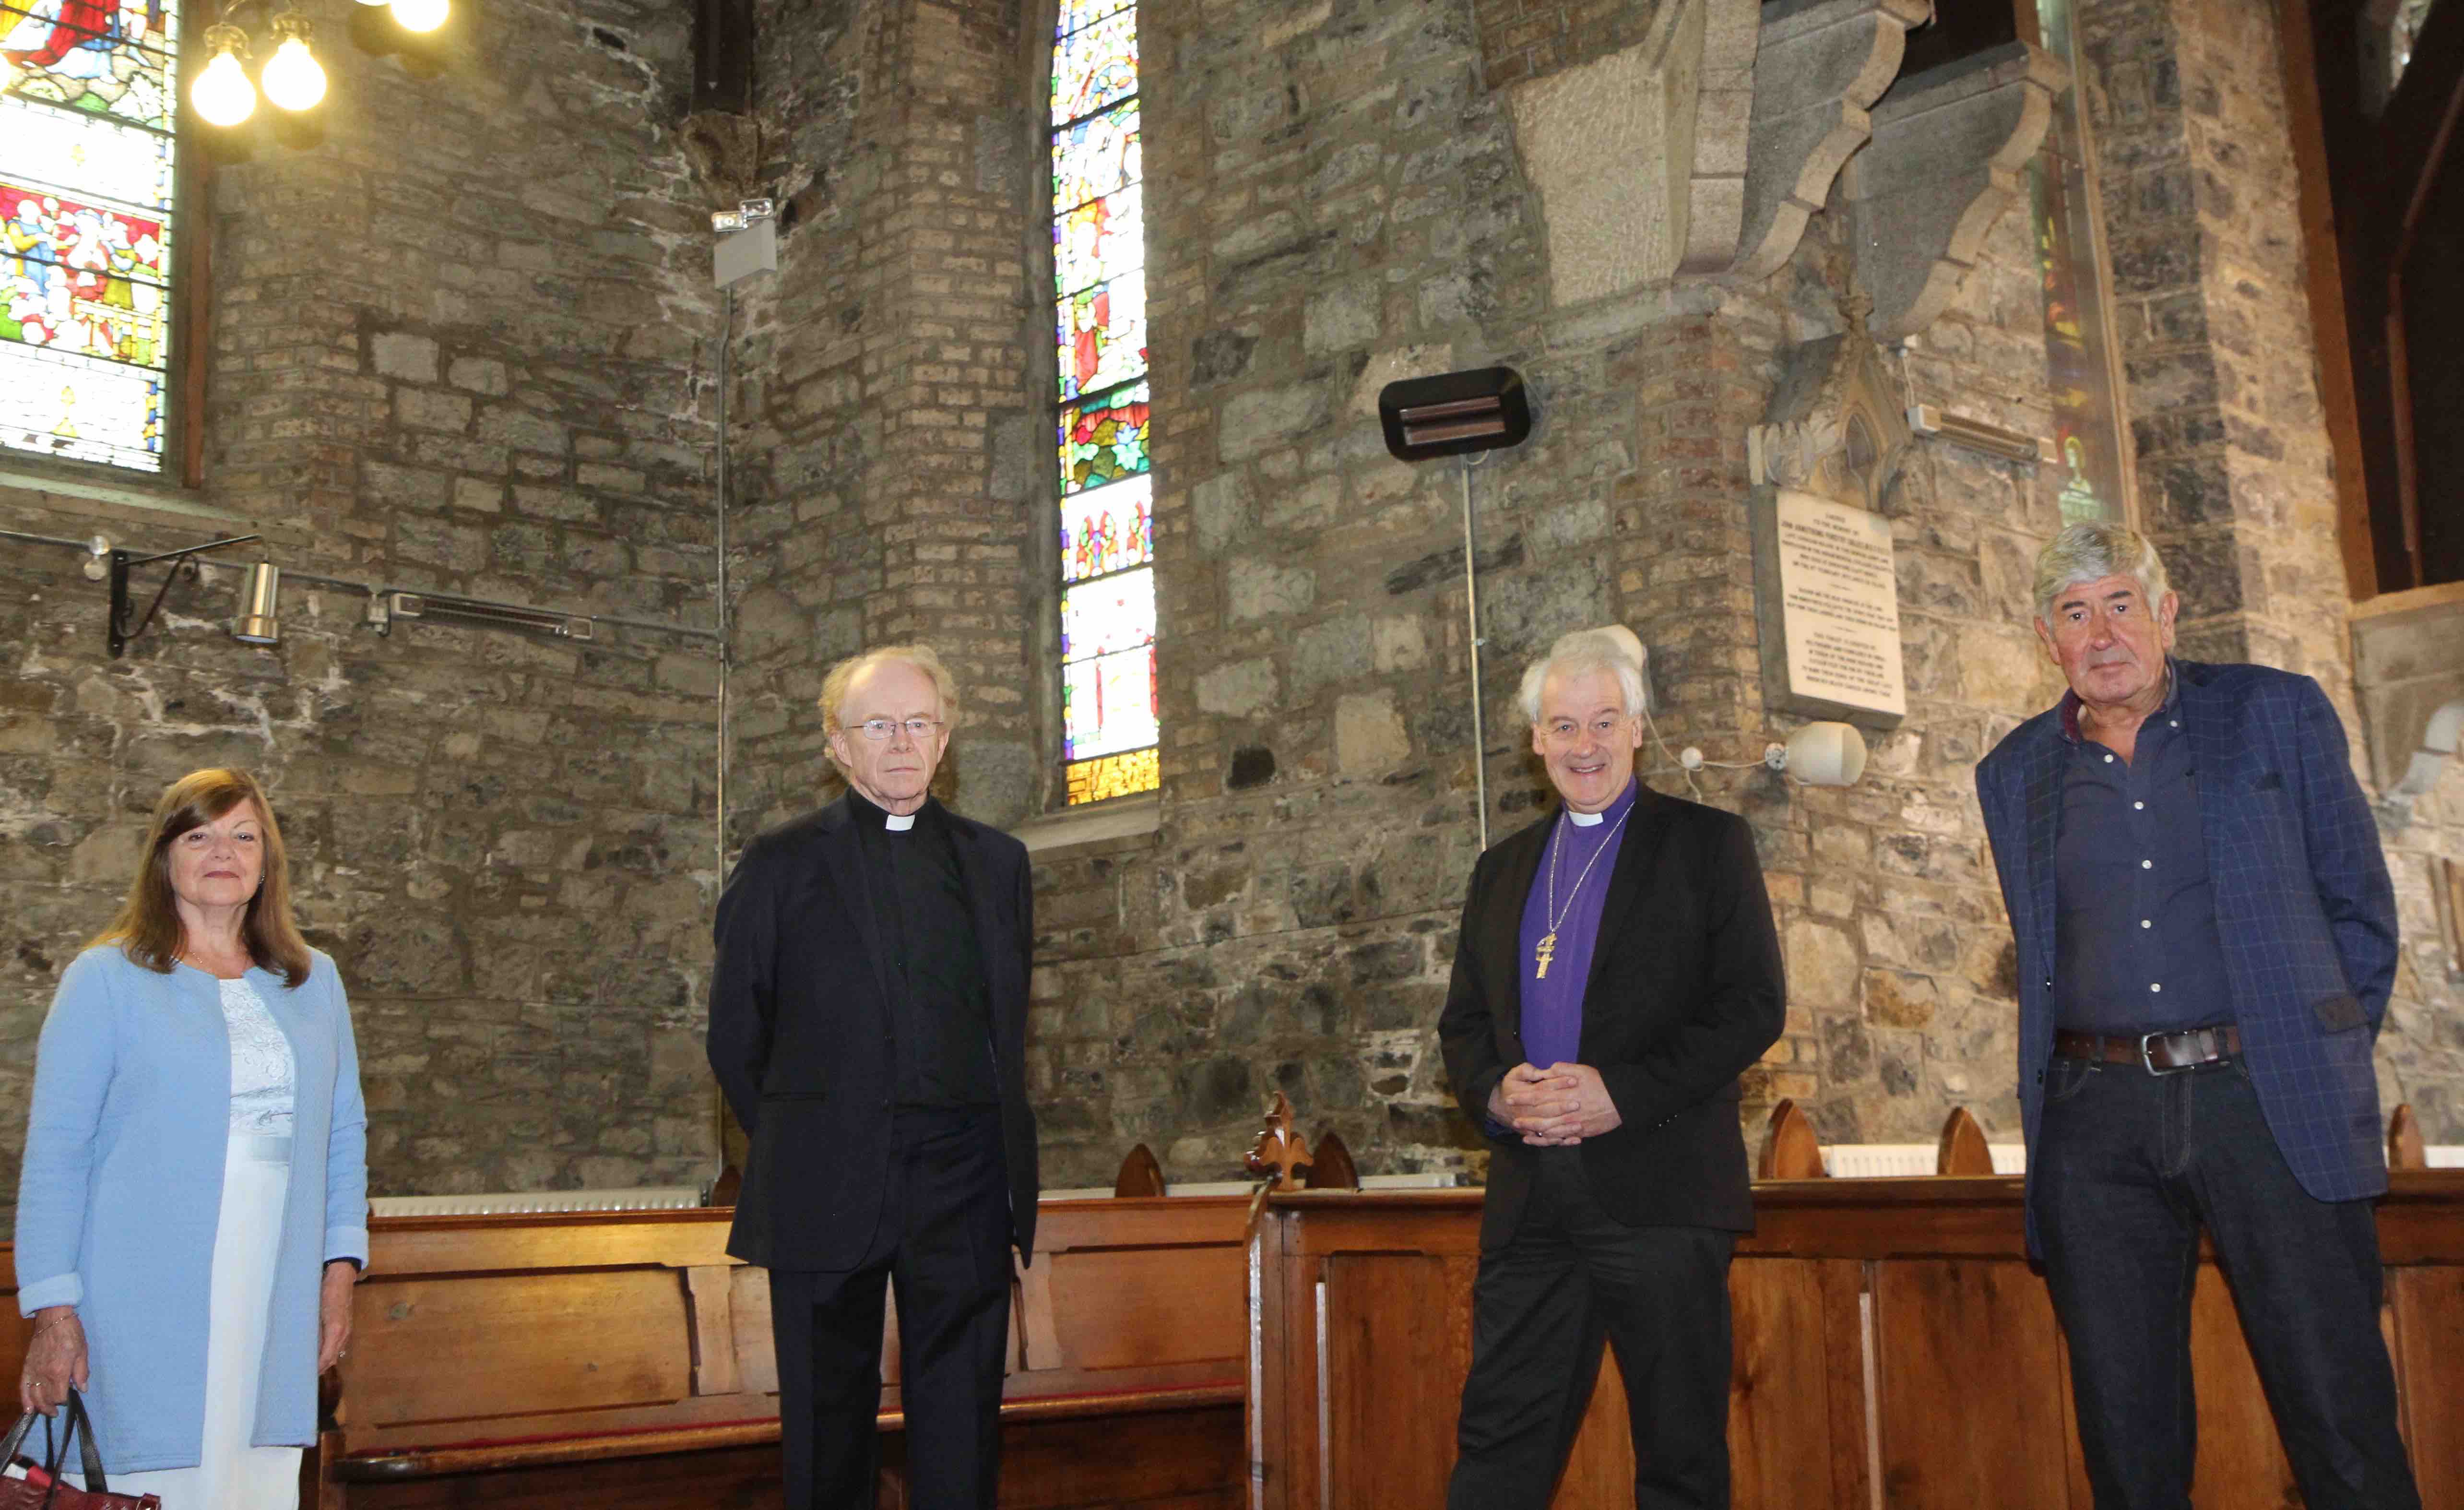
[[[1646,12],[1592,20],[1629,34]],[[1552,123],[1491,86],[1493,20],[1148,22],[1165,791],[1151,840],[1047,850],[1037,870],[1052,1182],[1106,1180],[1131,1141],[1173,1177],[1230,1175],[1274,1089],[1365,1168],[1478,1163],[1434,1044],[1478,845],[1464,473],[1385,456],[1380,384],[1510,362],[1540,409],[1530,443],[1471,473],[1496,835],[1545,810],[1513,687],[1567,628],[1643,636],[1671,749],[1752,759],[1791,727],[1762,707],[1745,429],[1784,347],[1841,328],[1838,229],[1816,222],[1762,286],[1555,305],[1589,283],[1552,278],[1552,259],[1614,249],[1547,222],[1518,131]],[[1986,261],[1910,379],[2048,429],[2023,219]],[[1796,1096],[1828,1138],[1929,1138],[1969,1104],[2016,1136],[2008,934],[1971,766],[2055,685],[2020,623],[2053,483],[1919,448],[1892,512],[1907,727],[1853,791],[1700,783],[1754,820],[1789,948],[1789,1032],[1747,1118]]]

